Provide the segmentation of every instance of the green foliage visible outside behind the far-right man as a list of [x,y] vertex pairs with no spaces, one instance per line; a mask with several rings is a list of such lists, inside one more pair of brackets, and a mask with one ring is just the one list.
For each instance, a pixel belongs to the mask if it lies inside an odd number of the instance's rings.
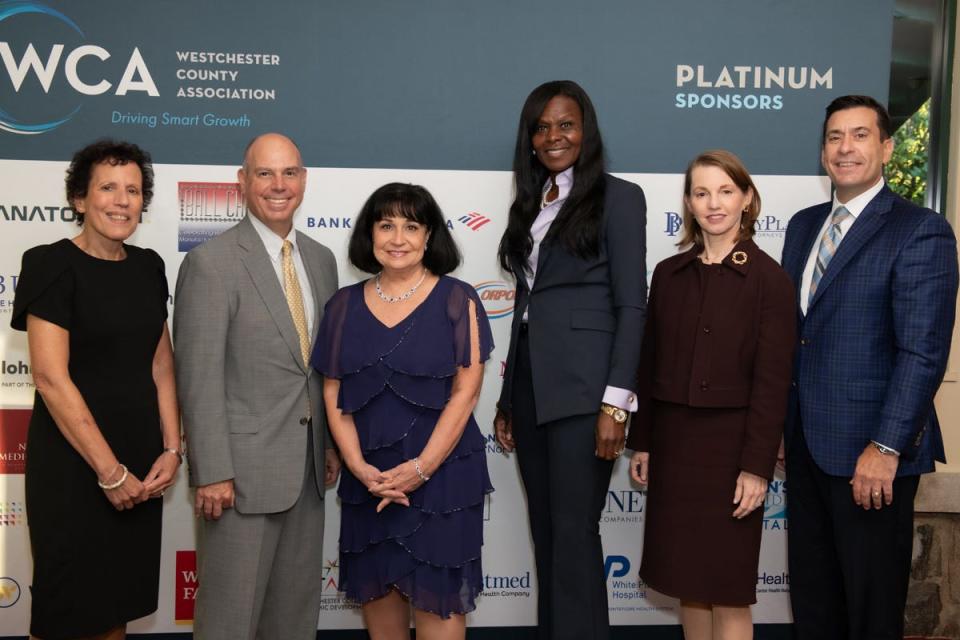
[[927,191],[927,155],[930,142],[928,99],[893,134],[893,156],[886,166],[887,184],[896,193],[923,204]]

